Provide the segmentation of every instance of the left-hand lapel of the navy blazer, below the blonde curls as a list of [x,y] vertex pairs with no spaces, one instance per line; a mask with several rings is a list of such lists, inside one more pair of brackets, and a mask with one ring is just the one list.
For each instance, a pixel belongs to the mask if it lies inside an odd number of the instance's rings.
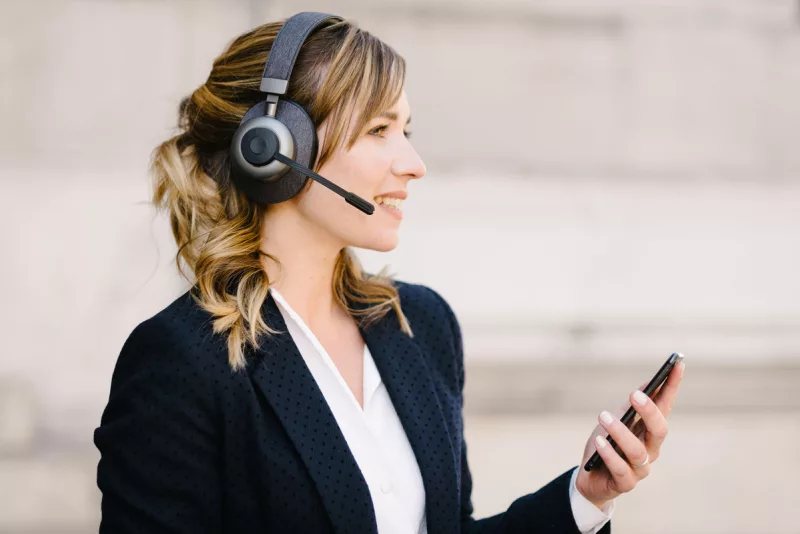
[[[334,532],[377,534],[375,510],[366,480],[292,340],[272,294],[268,294],[262,313],[267,324],[282,333],[265,336],[266,340],[256,351],[258,357],[251,370],[255,384],[272,405],[305,462],[328,510]],[[331,466],[338,468],[333,470],[337,477],[354,481],[346,492],[340,491],[341,483],[331,478]]]

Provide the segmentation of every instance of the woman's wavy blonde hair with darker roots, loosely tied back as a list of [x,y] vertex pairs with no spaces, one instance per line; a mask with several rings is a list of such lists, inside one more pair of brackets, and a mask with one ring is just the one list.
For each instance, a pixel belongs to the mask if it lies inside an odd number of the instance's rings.
[[[270,281],[260,255],[266,205],[250,201],[230,177],[228,146],[245,112],[263,100],[259,84],[267,54],[285,20],[235,38],[214,60],[206,82],[182,99],[180,133],[153,150],[153,204],[169,212],[181,260],[193,272],[191,292],[213,316],[215,333],[227,333],[228,363],[245,367],[244,351],[275,334],[261,316]],[[314,124],[328,120],[315,170],[341,146],[352,147],[366,123],[399,98],[405,61],[391,47],[349,21],[315,31],[303,45],[289,80],[287,98],[302,105]],[[351,118],[357,124],[345,139]],[[276,258],[269,256],[273,260]],[[335,301],[363,326],[394,310],[403,332],[413,336],[393,279],[364,273],[349,248],[333,273]],[[348,300],[365,305],[353,309]]]

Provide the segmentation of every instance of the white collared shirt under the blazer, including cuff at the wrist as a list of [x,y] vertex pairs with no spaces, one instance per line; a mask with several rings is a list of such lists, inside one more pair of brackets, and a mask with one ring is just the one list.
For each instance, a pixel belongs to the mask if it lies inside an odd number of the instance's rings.
[[[325,347],[278,290],[270,291],[367,481],[379,534],[426,534],[422,474],[369,348],[364,345],[362,409]],[[570,482],[572,513],[582,533],[596,534],[611,518],[614,501],[600,511],[575,489],[577,472]]]

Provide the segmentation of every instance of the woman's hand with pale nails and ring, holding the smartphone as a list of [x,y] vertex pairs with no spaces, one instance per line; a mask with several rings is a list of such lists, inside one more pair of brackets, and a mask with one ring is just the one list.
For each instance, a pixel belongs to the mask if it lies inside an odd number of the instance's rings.
[[[641,392],[647,385],[645,382],[638,390],[631,393],[630,404],[624,404],[614,414],[603,412],[598,416],[600,424],[595,427],[589,441],[586,442],[583,460],[578,466],[578,477],[575,480],[577,490],[598,508],[602,508],[606,502],[621,493],[631,491],[640,480],[650,474],[650,466],[658,459],[661,445],[667,437],[667,417],[678,394],[684,367],[685,364],[680,362],[672,369],[655,399],[650,399]],[[643,404],[638,402],[639,396],[644,398]],[[632,430],[619,420],[629,406],[633,406],[641,417],[633,425]],[[604,421],[604,415],[611,415],[611,421]],[[610,446],[604,437],[606,433],[622,449],[627,461]],[[605,465],[586,471],[583,466],[595,450],[600,452]],[[642,467],[632,467],[641,465],[645,460],[647,463]]]

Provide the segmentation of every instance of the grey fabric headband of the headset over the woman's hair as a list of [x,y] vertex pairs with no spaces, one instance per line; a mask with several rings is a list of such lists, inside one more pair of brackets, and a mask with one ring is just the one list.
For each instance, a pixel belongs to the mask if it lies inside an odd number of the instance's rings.
[[267,102],[277,103],[277,96],[286,93],[294,63],[300,48],[308,36],[328,21],[343,20],[337,15],[305,11],[289,18],[281,27],[267,56],[264,74],[261,77],[261,91],[268,93]]

